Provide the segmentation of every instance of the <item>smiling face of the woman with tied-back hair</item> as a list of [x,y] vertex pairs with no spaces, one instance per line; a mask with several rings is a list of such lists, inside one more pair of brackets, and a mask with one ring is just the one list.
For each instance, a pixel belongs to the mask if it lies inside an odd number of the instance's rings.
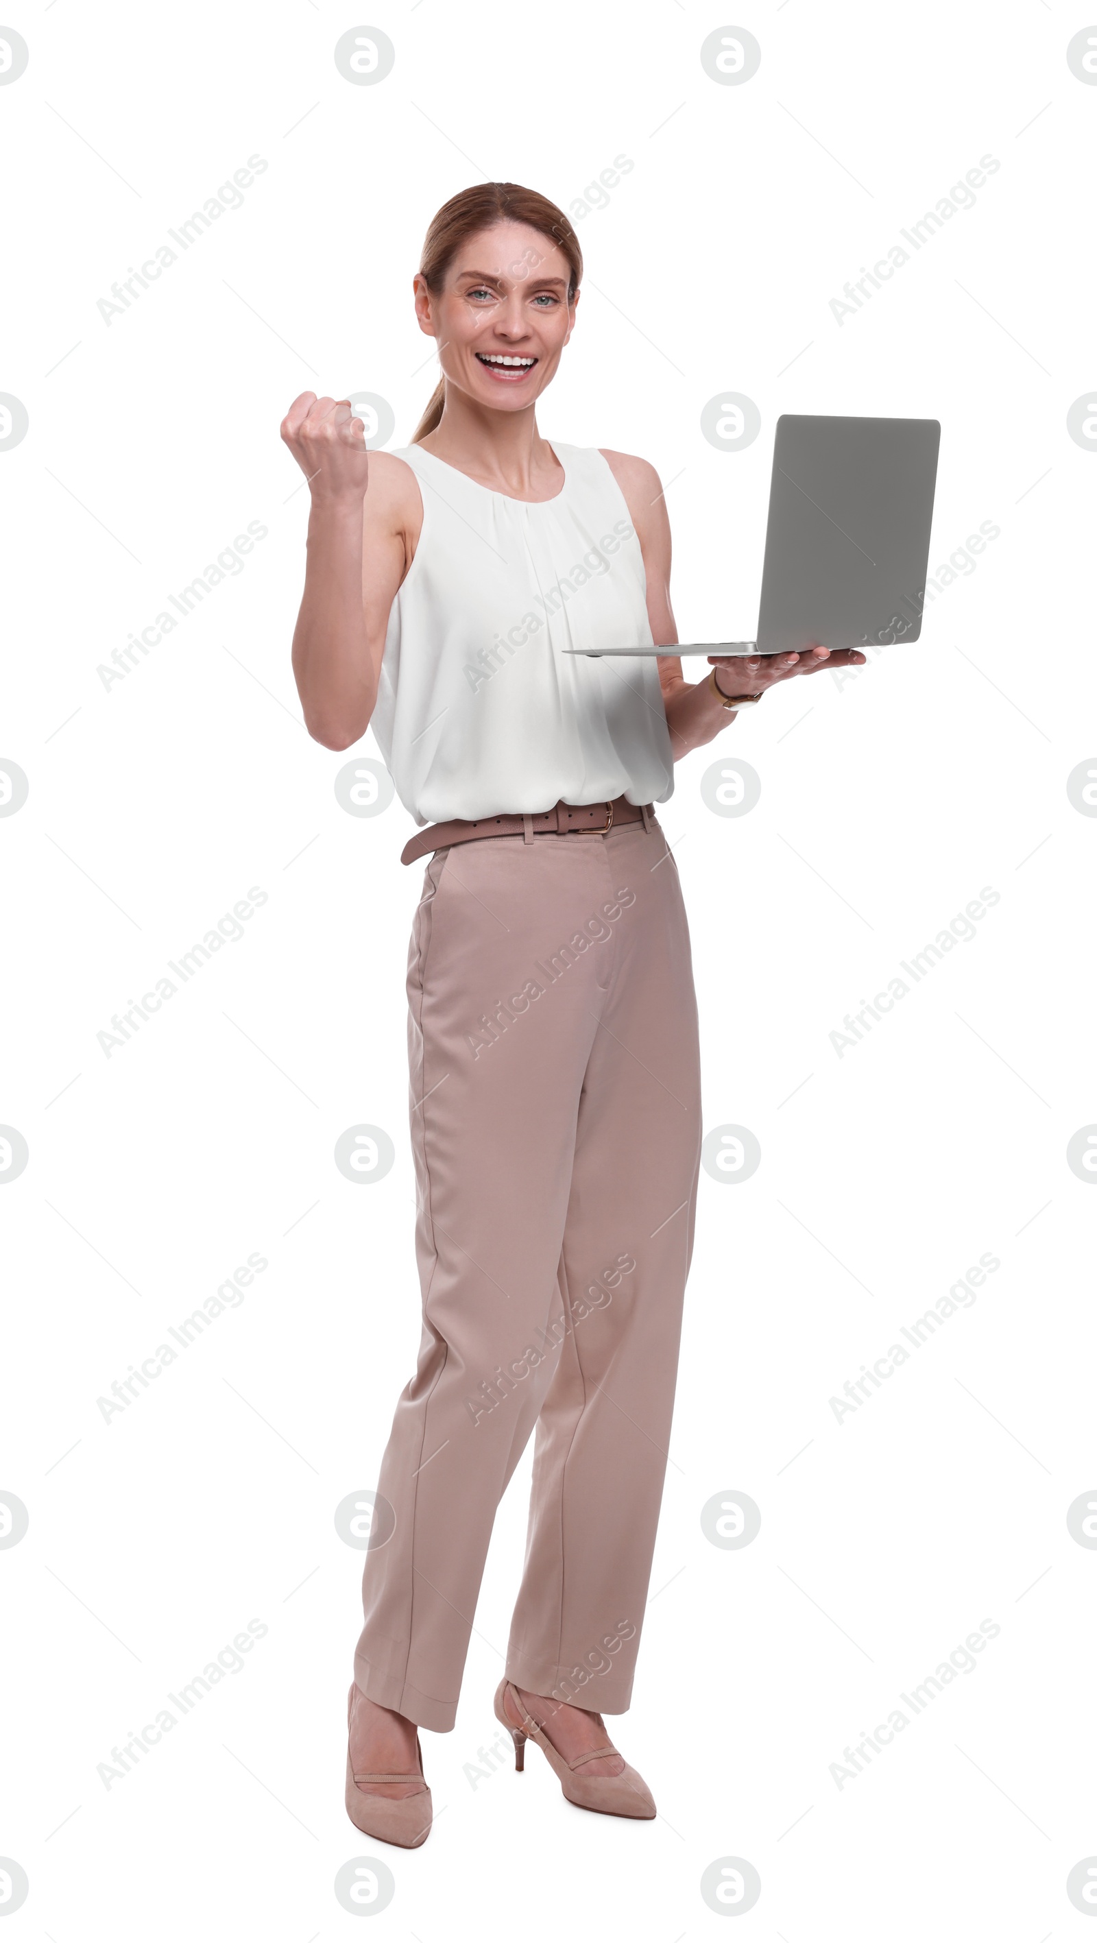
[[530,406],[575,324],[569,274],[540,229],[501,222],[462,243],[439,295],[416,276],[419,328],[437,338],[447,381],[495,412]]

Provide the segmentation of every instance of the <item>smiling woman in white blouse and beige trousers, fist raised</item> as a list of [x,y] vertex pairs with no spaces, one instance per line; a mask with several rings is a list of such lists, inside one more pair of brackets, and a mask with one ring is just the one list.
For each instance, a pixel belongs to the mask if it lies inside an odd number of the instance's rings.
[[538,431],[575,328],[567,218],[513,183],[435,216],[416,276],[441,383],[410,447],[349,404],[282,426],[313,495],[293,672],[309,733],[373,721],[431,855],[412,935],[423,1337],[379,1479],[348,1702],[348,1813],[431,1826],[417,1727],[454,1723],[495,1506],[536,1424],[495,1714],[581,1807],[652,1817],[629,1706],[670,1436],[701,1148],[674,760],[860,653],[586,659],[674,643],[654,466]]

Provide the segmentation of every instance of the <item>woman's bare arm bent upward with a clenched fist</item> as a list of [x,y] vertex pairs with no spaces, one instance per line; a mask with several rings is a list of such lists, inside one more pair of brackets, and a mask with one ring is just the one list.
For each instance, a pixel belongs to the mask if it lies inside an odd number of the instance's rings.
[[367,453],[346,400],[301,392],[282,437],[313,495],[293,676],[309,734],[349,748],[377,705],[388,612],[416,552],[421,501],[410,466]]

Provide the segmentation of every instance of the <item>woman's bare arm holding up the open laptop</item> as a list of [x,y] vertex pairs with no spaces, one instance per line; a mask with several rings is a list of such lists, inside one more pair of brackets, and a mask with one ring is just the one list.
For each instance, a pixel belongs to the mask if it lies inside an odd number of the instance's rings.
[[[647,459],[629,453],[602,453],[602,457],[625,495],[641,542],[652,641],[670,645],[678,641],[678,626],[670,606],[670,519],[658,472]],[[804,655],[709,655],[709,661],[718,670],[716,684],[726,696],[759,696],[792,674],[862,663],[864,655],[856,649],[839,649],[831,655],[827,647],[814,647]],[[680,655],[660,655],[658,680],[676,762],[738,721],[738,715],[713,694],[709,676],[701,682],[685,680]]]

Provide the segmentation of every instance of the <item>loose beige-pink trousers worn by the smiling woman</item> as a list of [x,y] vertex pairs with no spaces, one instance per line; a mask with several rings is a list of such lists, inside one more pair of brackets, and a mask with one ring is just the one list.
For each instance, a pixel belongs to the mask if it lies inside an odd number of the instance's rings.
[[423,1337],[381,1465],[355,1681],[454,1725],[495,1508],[536,1426],[505,1673],[623,1714],[701,1150],[658,822],[437,851],[408,999]]

